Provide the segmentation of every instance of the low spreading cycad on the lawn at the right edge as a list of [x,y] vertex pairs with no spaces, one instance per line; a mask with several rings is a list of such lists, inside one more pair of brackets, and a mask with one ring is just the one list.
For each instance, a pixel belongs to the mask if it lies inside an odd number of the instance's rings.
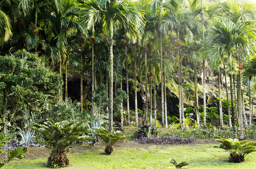
[[229,162],[242,162],[244,161],[245,156],[256,151],[256,143],[252,141],[242,140],[239,142],[238,139],[226,139],[218,136],[215,136],[214,138],[216,138],[215,140],[217,142],[221,143],[219,146],[214,147],[224,149],[230,154]]

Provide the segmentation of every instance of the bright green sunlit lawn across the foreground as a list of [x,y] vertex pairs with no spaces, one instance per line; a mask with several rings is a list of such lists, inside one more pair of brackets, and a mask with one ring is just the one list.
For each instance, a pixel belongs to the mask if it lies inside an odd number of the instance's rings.
[[[158,147],[147,149],[126,148],[114,150],[107,156],[102,151],[84,151],[70,154],[71,165],[65,168],[175,168],[169,158],[177,162],[186,161],[189,165],[183,168],[256,168],[256,153],[245,157],[241,163],[227,162],[229,154],[213,145]],[[34,160],[11,161],[3,168],[46,168],[47,157]],[[25,167],[26,166],[26,167]]]

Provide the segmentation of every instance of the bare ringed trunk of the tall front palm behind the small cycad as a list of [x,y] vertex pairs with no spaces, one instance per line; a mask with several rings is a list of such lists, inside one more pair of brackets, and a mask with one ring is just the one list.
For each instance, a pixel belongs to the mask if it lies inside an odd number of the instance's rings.
[[109,112],[109,131],[113,131],[113,39],[110,38],[110,112]]

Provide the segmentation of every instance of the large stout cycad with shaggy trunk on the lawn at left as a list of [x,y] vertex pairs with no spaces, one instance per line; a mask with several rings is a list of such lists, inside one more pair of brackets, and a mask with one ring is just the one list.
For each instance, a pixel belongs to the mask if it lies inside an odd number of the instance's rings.
[[86,121],[54,122],[49,119],[44,124],[34,124],[33,130],[44,136],[44,143],[50,148],[48,157],[48,166],[66,166],[69,165],[68,151],[72,146],[79,146],[83,142],[91,140],[91,137],[84,136],[88,133],[88,124]]

